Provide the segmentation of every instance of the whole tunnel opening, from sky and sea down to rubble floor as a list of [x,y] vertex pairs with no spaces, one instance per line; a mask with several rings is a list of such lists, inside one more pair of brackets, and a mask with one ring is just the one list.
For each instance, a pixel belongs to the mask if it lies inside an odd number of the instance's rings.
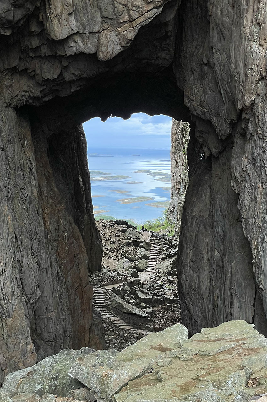
[[[174,120],[175,133],[177,124]],[[171,127],[170,117],[145,113],[83,124],[94,217],[103,243],[102,270],[92,273],[90,281],[108,349],[121,350],[147,331],[181,323],[178,238],[167,214]],[[174,134],[172,139],[177,140]]]

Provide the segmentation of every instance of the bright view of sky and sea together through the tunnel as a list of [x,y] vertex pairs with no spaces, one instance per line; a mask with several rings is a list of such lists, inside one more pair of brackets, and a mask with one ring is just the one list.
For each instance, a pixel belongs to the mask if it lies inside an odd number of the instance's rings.
[[131,220],[138,227],[162,219],[170,202],[171,122],[138,113],[84,123],[96,219]]

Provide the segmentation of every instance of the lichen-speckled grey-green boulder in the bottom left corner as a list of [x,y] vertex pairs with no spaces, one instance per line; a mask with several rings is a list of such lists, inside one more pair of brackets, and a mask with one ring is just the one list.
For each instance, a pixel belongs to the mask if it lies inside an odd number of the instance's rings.
[[64,349],[54,356],[49,356],[27,369],[15,371],[6,376],[1,391],[11,398],[15,394],[29,393],[43,396],[55,394],[70,397],[72,390],[82,388],[82,384],[68,375],[68,370],[76,359],[94,352],[94,349],[82,348],[79,351]]

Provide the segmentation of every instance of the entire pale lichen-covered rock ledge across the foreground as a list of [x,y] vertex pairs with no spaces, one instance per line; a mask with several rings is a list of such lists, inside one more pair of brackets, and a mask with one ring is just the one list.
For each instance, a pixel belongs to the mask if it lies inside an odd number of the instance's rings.
[[[264,396],[265,395],[265,396]],[[262,397],[262,399],[260,399]],[[4,402],[266,402],[267,339],[244,321],[176,324],[123,351],[64,350],[9,374]]]

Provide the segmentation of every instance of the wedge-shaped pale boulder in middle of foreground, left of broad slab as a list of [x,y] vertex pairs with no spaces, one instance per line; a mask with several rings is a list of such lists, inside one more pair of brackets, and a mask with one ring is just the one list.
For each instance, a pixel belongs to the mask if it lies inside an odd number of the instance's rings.
[[100,398],[109,400],[129,381],[148,373],[166,351],[177,355],[187,336],[187,329],[176,324],[145,336],[121,352],[102,350],[77,359],[69,375],[97,392]]

